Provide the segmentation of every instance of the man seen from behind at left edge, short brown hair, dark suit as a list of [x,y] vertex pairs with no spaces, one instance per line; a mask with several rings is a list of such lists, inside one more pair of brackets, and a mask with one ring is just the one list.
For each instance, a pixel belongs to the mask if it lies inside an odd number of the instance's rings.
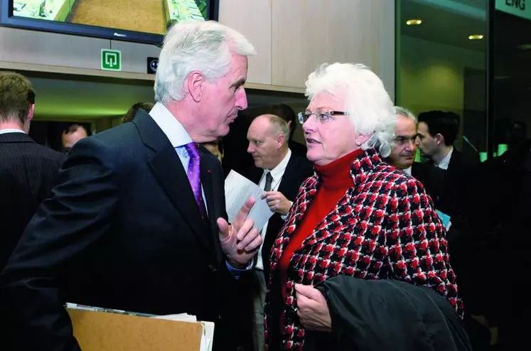
[[31,82],[0,72],[0,271],[37,206],[50,195],[65,158],[28,136],[34,111]]

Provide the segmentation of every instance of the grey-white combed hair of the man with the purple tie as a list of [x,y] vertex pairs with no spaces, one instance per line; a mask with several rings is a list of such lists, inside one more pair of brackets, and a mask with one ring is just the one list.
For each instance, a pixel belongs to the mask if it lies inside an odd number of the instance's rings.
[[231,53],[256,55],[253,45],[232,28],[215,21],[176,23],[164,38],[155,76],[155,100],[166,104],[186,95],[193,71],[217,80],[230,70]]

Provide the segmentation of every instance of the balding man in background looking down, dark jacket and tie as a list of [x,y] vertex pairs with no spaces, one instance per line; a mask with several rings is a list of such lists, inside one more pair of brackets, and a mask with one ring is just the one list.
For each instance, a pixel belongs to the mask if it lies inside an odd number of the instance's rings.
[[294,156],[288,146],[289,125],[274,114],[256,117],[247,131],[247,152],[254,167],[244,175],[264,189],[269,209],[274,215],[262,228],[263,244],[257,255],[254,274],[249,277],[252,293],[255,351],[264,350],[264,301],[266,276],[269,275],[269,252],[284,225],[286,215],[306,178],[313,175],[313,165],[306,158]]

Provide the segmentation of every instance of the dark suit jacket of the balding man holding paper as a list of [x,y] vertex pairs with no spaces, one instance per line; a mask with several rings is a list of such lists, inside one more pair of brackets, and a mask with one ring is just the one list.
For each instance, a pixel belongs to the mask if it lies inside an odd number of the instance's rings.
[[[249,180],[252,180],[253,183],[258,184],[263,174],[264,170],[262,168],[253,167],[245,173],[245,176]],[[294,202],[301,184],[306,178],[311,177],[311,175],[313,175],[313,164],[307,158],[297,157],[291,153],[286,171],[282,175],[277,191],[282,193],[291,202]],[[269,218],[267,232],[264,243],[262,244],[262,262],[264,263],[264,276],[266,277],[269,275],[269,252],[283,225],[284,220],[282,220],[282,216],[279,213],[275,213]]]

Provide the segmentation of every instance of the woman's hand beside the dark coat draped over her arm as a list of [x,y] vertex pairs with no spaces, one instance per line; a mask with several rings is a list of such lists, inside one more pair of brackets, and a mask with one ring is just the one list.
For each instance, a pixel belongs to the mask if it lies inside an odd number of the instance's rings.
[[297,315],[307,330],[332,331],[332,318],[328,303],[321,291],[311,285],[295,284]]

